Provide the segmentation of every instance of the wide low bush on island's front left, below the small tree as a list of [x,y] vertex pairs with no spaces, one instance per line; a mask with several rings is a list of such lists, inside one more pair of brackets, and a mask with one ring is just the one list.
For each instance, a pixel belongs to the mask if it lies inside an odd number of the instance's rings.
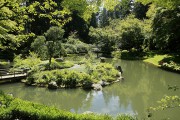
[[48,83],[55,81],[59,87],[66,88],[83,86],[85,81],[92,81],[88,74],[72,70],[42,71],[28,76],[27,81],[29,78],[40,86],[46,86]]

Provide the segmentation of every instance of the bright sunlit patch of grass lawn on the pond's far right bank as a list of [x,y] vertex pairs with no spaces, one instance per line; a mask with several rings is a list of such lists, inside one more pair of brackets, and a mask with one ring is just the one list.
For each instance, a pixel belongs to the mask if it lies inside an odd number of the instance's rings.
[[159,61],[163,60],[166,57],[170,57],[170,56],[169,55],[154,55],[153,57],[149,57],[143,61],[160,67]]

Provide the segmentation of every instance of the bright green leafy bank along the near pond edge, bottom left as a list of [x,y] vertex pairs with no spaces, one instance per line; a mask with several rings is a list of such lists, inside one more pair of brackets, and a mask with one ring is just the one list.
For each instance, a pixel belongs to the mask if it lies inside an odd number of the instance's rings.
[[103,114],[75,114],[29,101],[23,101],[0,92],[1,120],[136,120],[129,115],[113,118]]

